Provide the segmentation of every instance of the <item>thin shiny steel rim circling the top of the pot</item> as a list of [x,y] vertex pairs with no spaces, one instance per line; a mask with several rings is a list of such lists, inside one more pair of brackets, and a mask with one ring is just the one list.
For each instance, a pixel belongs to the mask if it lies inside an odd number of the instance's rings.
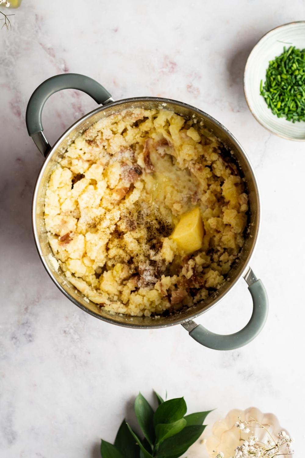
[[[245,158],[245,160],[247,162],[247,165],[248,165],[248,167],[251,170],[251,173],[253,175],[254,185],[255,185],[256,190],[257,190],[257,203],[258,203],[258,205],[257,205],[257,228],[256,228],[256,231],[255,231],[255,235],[254,235],[254,240],[253,240],[253,244],[252,244],[252,247],[251,247],[251,251],[249,252],[249,254],[248,254],[247,258],[246,258],[246,261],[244,263],[244,267],[241,268],[241,271],[238,273],[238,275],[236,276],[236,278],[233,281],[233,283],[230,284],[230,286],[221,294],[221,296],[219,298],[215,298],[215,300],[211,304],[205,306],[203,308],[203,310],[196,311],[193,314],[191,314],[190,316],[187,316],[187,318],[183,317],[181,319],[177,319],[177,321],[175,321],[175,322],[160,323],[160,324],[158,324],[158,320],[154,320],[155,324],[143,325],[143,326],[135,325],[132,322],[126,322],[126,323],[117,322],[117,321],[115,321],[114,319],[112,319],[110,317],[100,316],[97,313],[95,313],[94,311],[91,311],[88,308],[86,308],[78,300],[75,300],[63,288],[63,286],[57,281],[57,279],[54,277],[52,271],[48,267],[48,263],[46,262],[46,260],[45,260],[45,258],[43,256],[43,251],[42,251],[40,243],[39,243],[39,237],[38,237],[38,232],[37,232],[37,224],[36,224],[37,223],[37,220],[36,220],[37,190],[38,190],[38,187],[40,185],[41,179],[43,177],[44,170],[46,169],[46,167],[48,165],[48,162],[50,161],[50,159],[53,156],[54,150],[59,146],[59,144],[64,140],[64,138],[66,136],[68,136],[82,122],[90,119],[91,116],[93,116],[94,114],[102,111],[103,109],[106,109],[106,108],[108,108],[110,106],[115,107],[115,106],[119,106],[119,105],[125,104],[125,103],[132,104],[133,102],[140,102],[140,101],[144,101],[144,102],[154,101],[154,102],[160,102],[161,104],[162,103],[163,104],[164,103],[165,104],[166,103],[170,103],[170,104],[175,104],[177,106],[186,107],[186,108],[192,110],[194,113],[197,113],[200,116],[206,117],[210,121],[212,121],[214,124],[216,124],[222,131],[225,132],[225,134],[230,138],[232,143],[235,144],[237,147],[239,147],[239,149],[241,150],[241,153],[244,155],[244,158]],[[40,171],[38,173],[37,180],[36,180],[36,183],[35,183],[35,187],[34,187],[34,191],[33,191],[33,198],[32,198],[32,231],[33,231],[33,236],[34,236],[37,252],[38,252],[38,255],[40,257],[41,262],[43,263],[43,267],[47,271],[49,277],[54,282],[54,284],[58,287],[58,289],[71,302],[73,302],[73,304],[77,305],[81,310],[85,311],[86,313],[89,313],[90,315],[92,315],[92,316],[94,316],[94,317],[96,317],[96,318],[98,318],[98,319],[100,319],[100,320],[102,320],[104,322],[115,324],[117,326],[129,327],[129,328],[134,328],[134,329],[159,329],[159,328],[163,328],[163,327],[176,326],[177,324],[183,324],[183,323],[191,321],[191,320],[197,318],[198,316],[202,315],[203,313],[205,313],[206,311],[208,311],[212,307],[214,307],[216,304],[218,304],[221,300],[223,300],[227,296],[227,294],[229,294],[229,292],[234,288],[234,286],[238,283],[240,278],[242,276],[244,277],[244,275],[249,270],[249,263],[251,262],[253,253],[254,253],[255,248],[256,248],[257,239],[258,239],[258,236],[259,236],[259,233],[260,233],[260,229],[261,229],[261,213],[262,213],[262,210],[261,210],[261,196],[260,196],[260,191],[259,191],[259,187],[258,187],[258,183],[257,183],[257,178],[256,178],[255,171],[253,169],[253,166],[252,166],[252,164],[251,164],[251,162],[250,162],[250,160],[249,160],[244,148],[241,146],[241,144],[238,142],[238,140],[235,138],[235,136],[233,134],[231,134],[231,132],[223,124],[221,124],[218,120],[216,120],[213,116],[211,116],[210,114],[206,113],[205,111],[200,110],[200,109],[194,107],[193,105],[189,105],[189,104],[186,104],[184,102],[180,102],[180,101],[177,101],[177,100],[174,100],[174,99],[162,98],[162,97],[131,97],[131,98],[124,98],[124,99],[116,100],[116,101],[113,101],[113,102],[111,101],[111,102],[109,102],[109,103],[107,103],[105,105],[99,106],[98,108],[90,111],[89,113],[87,113],[84,116],[82,116],[79,120],[75,121],[74,124],[70,125],[70,127],[68,127],[68,129],[54,143],[53,147],[50,149],[50,151],[48,152],[48,155],[46,156],[46,158],[43,161],[42,167],[41,167],[41,169],[40,169]]]

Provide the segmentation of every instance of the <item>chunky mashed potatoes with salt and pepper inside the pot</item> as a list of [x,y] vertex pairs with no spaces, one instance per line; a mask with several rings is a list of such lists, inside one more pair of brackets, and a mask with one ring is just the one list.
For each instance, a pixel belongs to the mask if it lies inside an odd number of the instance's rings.
[[[70,283],[107,311],[134,316],[191,306],[219,289],[244,243],[248,210],[243,180],[220,147],[202,125],[166,109],[112,114],[78,137],[51,174],[44,207]],[[179,245],[171,234],[195,208]],[[183,251],[187,237],[199,249]]]

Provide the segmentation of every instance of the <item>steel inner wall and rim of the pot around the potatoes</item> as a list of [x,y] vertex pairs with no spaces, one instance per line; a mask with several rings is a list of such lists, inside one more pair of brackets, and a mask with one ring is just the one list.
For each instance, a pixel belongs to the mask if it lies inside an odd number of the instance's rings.
[[[246,181],[246,188],[249,194],[250,210],[245,244],[242,248],[240,258],[230,270],[229,278],[225,284],[221,286],[214,296],[209,297],[204,302],[198,303],[180,312],[176,312],[174,315],[156,318],[111,314],[93,302],[88,302],[84,295],[69,283],[67,278],[64,276],[64,273],[61,272],[61,269],[59,268],[57,271],[54,268],[54,262],[52,262],[53,253],[48,244],[47,232],[43,219],[44,198],[50,174],[52,173],[54,167],[56,167],[60,158],[63,157],[63,154],[70,143],[72,143],[77,136],[81,135],[82,132],[84,132],[96,121],[123,109],[133,109],[138,107],[171,109],[177,114],[182,114],[184,117],[193,117],[193,119],[196,119],[197,122],[203,121],[204,125],[223,143],[226,152],[228,154],[232,154],[234,160],[240,168],[241,175]],[[68,129],[68,131],[64,133],[63,136],[59,138],[58,142],[56,142],[49,153],[38,177],[37,188],[33,199],[33,230],[36,235],[37,249],[43,260],[44,266],[51,278],[53,278],[55,284],[57,284],[59,289],[61,289],[61,291],[69,297],[75,305],[78,305],[84,311],[87,311],[102,320],[130,327],[147,328],[175,325],[185,320],[192,319],[215,305],[216,302],[222,299],[232,286],[234,286],[238,278],[241,277],[245,268],[248,266],[250,256],[257,240],[259,217],[259,197],[255,177],[245,154],[234,137],[231,136],[230,132],[228,132],[216,120],[211,119],[209,115],[198,109],[190,107],[186,104],[160,98],[133,98],[118,101],[109,106],[106,105],[105,107],[100,107],[77,121],[70,129]]]

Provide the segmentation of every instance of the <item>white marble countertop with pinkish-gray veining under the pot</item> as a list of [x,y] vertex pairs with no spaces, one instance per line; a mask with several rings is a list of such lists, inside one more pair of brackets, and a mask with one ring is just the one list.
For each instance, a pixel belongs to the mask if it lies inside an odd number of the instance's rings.
[[[72,6],[73,5],[73,6]],[[252,117],[242,75],[268,30],[300,20],[288,0],[24,0],[0,33],[1,314],[0,456],[98,458],[139,390],[184,395],[191,410],[257,406],[304,443],[305,144],[271,135]],[[43,158],[27,136],[32,91],[62,72],[84,73],[113,98],[165,96],[213,115],[245,147],[263,207],[251,267],[269,294],[266,327],[246,347],[205,349],[181,327],[140,331],[79,310],[55,287],[32,237],[31,200]],[[86,94],[57,93],[43,112],[49,142],[95,108]],[[219,333],[251,315],[246,283],[198,318]]]

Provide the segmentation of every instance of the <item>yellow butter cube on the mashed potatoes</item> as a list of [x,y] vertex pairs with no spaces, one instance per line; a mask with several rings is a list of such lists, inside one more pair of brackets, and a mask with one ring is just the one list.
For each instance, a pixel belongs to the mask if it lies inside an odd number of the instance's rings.
[[186,253],[199,250],[204,235],[203,222],[198,207],[184,213],[170,238]]

